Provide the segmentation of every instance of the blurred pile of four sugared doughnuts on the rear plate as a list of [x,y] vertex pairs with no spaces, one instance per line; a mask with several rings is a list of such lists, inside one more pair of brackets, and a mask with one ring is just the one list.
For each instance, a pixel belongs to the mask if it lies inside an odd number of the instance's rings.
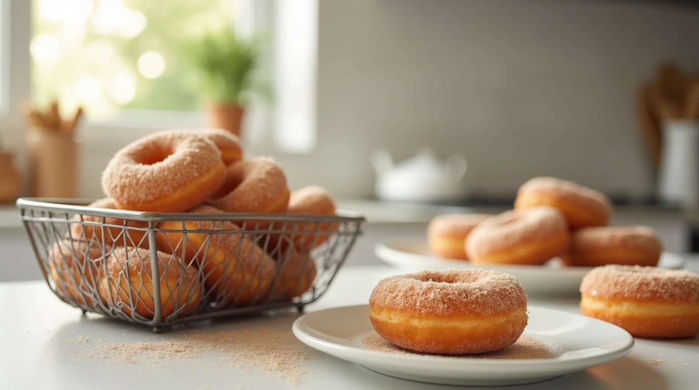
[[601,192],[533,178],[519,188],[514,210],[435,217],[428,246],[440,257],[474,263],[538,265],[560,257],[566,266],[655,266],[663,251],[656,233],[646,226],[607,226],[612,212]]

